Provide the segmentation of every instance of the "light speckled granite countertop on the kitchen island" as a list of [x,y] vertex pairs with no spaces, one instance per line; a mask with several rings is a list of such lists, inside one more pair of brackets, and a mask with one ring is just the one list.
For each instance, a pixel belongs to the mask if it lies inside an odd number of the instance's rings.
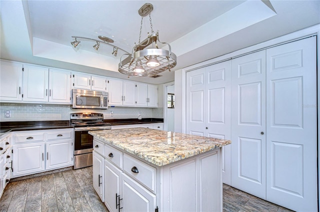
[[142,127],[94,130],[89,134],[157,166],[231,143],[230,140]]

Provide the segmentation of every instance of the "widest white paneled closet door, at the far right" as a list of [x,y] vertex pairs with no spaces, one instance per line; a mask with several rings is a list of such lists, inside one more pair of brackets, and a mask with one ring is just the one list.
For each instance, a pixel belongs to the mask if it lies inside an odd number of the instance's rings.
[[266,50],[266,200],[317,211],[316,37]]

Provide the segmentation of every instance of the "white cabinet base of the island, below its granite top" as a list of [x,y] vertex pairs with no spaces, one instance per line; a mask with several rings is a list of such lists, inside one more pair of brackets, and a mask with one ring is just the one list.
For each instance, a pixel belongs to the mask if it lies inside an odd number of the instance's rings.
[[163,166],[107,143],[103,154],[93,151],[93,187],[110,212],[222,211],[221,148]]

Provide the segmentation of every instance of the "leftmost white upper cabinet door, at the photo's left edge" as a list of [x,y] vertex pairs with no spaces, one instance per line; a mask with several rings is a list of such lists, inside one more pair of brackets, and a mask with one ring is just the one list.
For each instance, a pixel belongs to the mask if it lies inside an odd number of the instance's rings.
[[22,64],[1,61],[0,100],[22,100]]

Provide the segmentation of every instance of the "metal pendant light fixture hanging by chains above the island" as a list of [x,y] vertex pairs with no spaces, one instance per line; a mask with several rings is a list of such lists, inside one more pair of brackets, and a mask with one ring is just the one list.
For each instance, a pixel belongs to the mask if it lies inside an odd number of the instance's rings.
[[[155,33],[152,28],[151,11],[153,5],[145,3],[138,13],[141,16],[139,41],[132,48],[131,54],[127,55],[118,65],[119,72],[129,76],[153,76],[165,70],[170,70],[176,65],[176,55],[171,52],[171,46],[166,42],[160,42],[158,31]],[[151,33],[140,42],[143,17],[149,15]],[[167,45],[168,50],[158,48],[158,43]]]

